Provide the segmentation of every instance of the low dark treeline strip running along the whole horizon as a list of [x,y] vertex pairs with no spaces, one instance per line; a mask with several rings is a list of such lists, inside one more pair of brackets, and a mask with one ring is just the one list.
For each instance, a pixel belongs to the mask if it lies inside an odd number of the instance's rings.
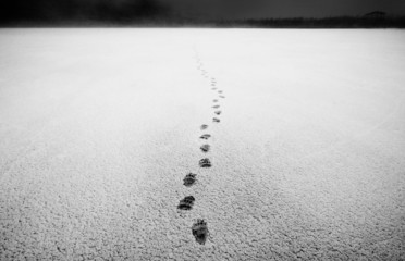
[[0,27],[208,27],[208,28],[405,28],[405,16],[385,18],[262,18],[195,20],[138,16],[136,18],[57,18],[1,21]]

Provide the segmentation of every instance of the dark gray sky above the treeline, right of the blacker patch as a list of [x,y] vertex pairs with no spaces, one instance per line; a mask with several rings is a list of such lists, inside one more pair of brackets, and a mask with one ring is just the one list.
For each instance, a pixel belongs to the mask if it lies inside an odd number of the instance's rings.
[[404,15],[405,0],[160,0],[174,11],[210,17],[363,15],[371,11]]

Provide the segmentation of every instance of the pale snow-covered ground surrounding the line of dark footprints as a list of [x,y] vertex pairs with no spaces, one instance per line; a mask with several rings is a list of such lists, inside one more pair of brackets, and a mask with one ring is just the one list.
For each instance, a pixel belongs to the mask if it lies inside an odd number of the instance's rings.
[[0,260],[405,259],[404,44],[1,29]]

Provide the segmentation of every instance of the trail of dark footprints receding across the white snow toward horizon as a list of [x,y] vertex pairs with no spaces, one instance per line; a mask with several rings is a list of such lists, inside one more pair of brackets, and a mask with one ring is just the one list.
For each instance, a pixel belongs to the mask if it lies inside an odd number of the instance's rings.
[[[204,64],[200,61],[198,53],[196,52],[196,62],[197,62],[197,69],[200,71],[201,76],[205,78],[209,78],[208,72],[204,69]],[[220,110],[221,104],[220,100],[224,99],[225,96],[223,95],[223,90],[219,89],[217,87],[217,79],[214,77],[210,78],[209,86],[212,90],[212,92],[216,95],[214,99],[212,100],[213,105],[213,117],[212,117],[212,123],[218,124],[221,122],[220,115],[222,114],[222,110]],[[208,124],[201,124],[200,125],[200,130],[204,132],[200,134],[199,139],[204,142],[200,146],[201,152],[207,156],[210,150],[211,150],[211,145],[208,144],[211,141],[211,134],[206,133],[206,130],[209,128]],[[209,157],[202,158],[198,162],[199,167],[201,169],[209,169],[212,166],[212,162],[209,159]],[[184,178],[183,178],[183,185],[187,188],[193,187],[197,183],[197,174],[195,173],[188,173]],[[191,211],[193,209],[194,202],[196,199],[193,196],[187,196],[183,199],[180,200],[177,209],[180,211]],[[200,245],[205,245],[209,237],[209,231],[208,231],[208,225],[207,222],[202,219],[197,219],[194,224],[192,225],[192,233],[193,236],[195,237],[196,241],[199,243]]]

